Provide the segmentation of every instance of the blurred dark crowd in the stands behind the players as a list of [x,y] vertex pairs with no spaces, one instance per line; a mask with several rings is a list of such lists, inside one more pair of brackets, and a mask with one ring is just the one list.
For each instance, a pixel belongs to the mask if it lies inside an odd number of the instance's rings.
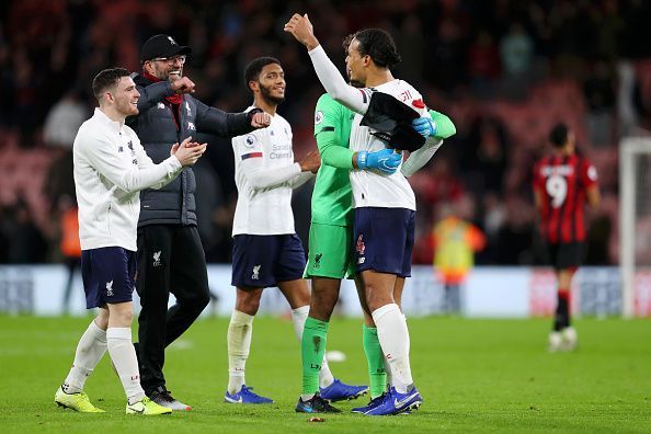
[[[618,261],[618,142],[651,127],[651,2],[642,0],[14,0],[0,3],[0,263],[60,262],[75,207],[71,145],[95,105],[92,77],[138,71],[140,45],[165,33],[190,45],[196,96],[226,111],[252,101],[249,60],[281,59],[295,153],[316,148],[313,107],[323,92],[301,45],[283,32],[307,12],[343,70],[342,38],[382,27],[402,62],[395,76],[457,126],[411,182],[419,202],[414,262],[432,263],[432,228],[445,214],[486,235],[478,264],[539,264],[530,174],[563,121],[596,164],[603,206],[590,215],[590,264]],[[209,141],[196,167],[207,260],[230,261],[237,191],[229,140]],[[295,193],[307,240],[311,189]]]

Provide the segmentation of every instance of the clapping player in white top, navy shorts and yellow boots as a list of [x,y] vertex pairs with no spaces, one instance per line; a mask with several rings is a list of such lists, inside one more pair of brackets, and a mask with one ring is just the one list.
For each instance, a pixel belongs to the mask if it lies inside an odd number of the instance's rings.
[[55,402],[83,413],[103,412],[90,402],[83,385],[108,351],[127,397],[126,413],[171,413],[145,396],[132,344],[139,192],[167,185],[197,161],[206,144],[191,142],[189,137],[155,164],[125,125],[127,116],[138,114],[140,96],[129,72],[101,71],[93,79],[93,93],[100,107],[79,128],[72,152],[87,308],[100,312],[81,336]]

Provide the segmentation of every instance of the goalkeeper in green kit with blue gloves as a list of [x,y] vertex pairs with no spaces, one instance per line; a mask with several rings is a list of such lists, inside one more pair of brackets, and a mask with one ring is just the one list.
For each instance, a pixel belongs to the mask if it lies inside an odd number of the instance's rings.
[[[456,133],[447,116],[434,111],[430,111],[430,114],[436,126],[436,137],[444,139]],[[354,213],[349,171],[375,170],[391,174],[400,167],[402,160],[402,155],[393,149],[375,152],[355,152],[349,149],[354,117],[354,112],[327,93],[321,95],[317,103],[315,138],[322,164],[312,193],[309,253],[304,275],[305,278],[311,278],[312,294],[301,341],[302,392],[296,404],[297,412],[336,413],[341,410],[332,407],[330,402],[357,398],[368,390],[359,389],[358,393],[352,395],[343,388],[354,386],[336,384],[328,389],[319,389],[319,370],[326,353],[330,317],[339,299],[341,279],[355,277],[352,248]],[[365,316],[363,344],[368,361],[372,406],[387,389],[385,356],[365,301],[364,287],[357,278],[355,285]],[[395,294],[398,304],[402,288],[399,290],[400,294]]]

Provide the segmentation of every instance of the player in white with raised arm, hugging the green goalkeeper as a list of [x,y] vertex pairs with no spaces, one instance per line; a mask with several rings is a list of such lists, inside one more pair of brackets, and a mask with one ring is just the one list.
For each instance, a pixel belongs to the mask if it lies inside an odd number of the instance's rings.
[[357,113],[351,132],[351,149],[377,151],[388,145],[386,136],[376,136],[377,132],[363,123],[375,92],[395,96],[420,115],[412,126],[426,141],[402,163],[400,172],[351,171],[357,271],[364,282],[366,301],[392,378],[392,386],[384,399],[356,410],[363,414],[384,415],[416,409],[423,399],[411,376],[409,330],[393,300],[393,292],[401,290],[404,278],[411,275],[414,241],[415,197],[404,176],[424,165],[442,141],[433,137],[436,126],[421,94],[391,75],[390,68],[400,61],[400,56],[387,32],[368,28],[349,39],[346,71],[350,82],[363,84],[364,89],[357,89],[349,85],[330,61],[307,15],[294,14],[285,24],[285,31],[308,48],[315,70],[328,93]]

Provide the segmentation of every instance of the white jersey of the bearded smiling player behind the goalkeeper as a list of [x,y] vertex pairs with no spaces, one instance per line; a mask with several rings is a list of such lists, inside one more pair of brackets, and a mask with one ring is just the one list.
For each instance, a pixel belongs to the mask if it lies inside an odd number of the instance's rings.
[[[238,187],[233,236],[295,232],[292,182],[283,182],[267,189],[254,189],[247,178],[247,172],[251,175],[252,171],[295,165],[292,137],[289,123],[276,113],[272,116],[269,127],[232,138]],[[299,173],[300,169],[297,169],[296,174]]]

